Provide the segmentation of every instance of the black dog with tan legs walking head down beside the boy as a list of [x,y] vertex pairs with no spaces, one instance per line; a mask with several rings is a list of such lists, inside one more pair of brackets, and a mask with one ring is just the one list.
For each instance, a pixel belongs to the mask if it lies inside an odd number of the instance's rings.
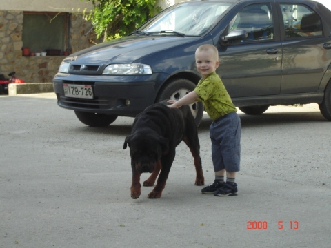
[[127,144],[130,147],[131,197],[134,199],[139,198],[141,194],[141,173],[152,173],[143,182],[143,186],[153,186],[160,170],[157,185],[148,194],[148,198],[161,197],[174,161],[175,149],[181,141],[188,145],[194,158],[197,172],[195,185],[204,185],[197,125],[194,123],[190,107],[170,109],[166,105],[168,103],[163,101],[141,112],[134,120],[132,134],[124,141],[123,149],[126,149]]

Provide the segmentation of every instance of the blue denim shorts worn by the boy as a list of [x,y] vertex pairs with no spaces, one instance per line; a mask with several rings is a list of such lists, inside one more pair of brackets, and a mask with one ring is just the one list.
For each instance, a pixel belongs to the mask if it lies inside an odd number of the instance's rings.
[[212,122],[209,131],[214,171],[239,172],[241,122],[238,114],[233,112],[218,118]]

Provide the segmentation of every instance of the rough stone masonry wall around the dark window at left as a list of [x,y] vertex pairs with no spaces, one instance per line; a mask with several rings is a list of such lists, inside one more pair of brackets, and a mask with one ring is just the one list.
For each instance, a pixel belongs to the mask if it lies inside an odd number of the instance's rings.
[[[52,82],[66,56],[22,56],[23,12],[0,11],[0,74],[12,71],[26,83]],[[73,53],[97,43],[95,33],[87,34],[92,24],[81,14],[70,14],[68,52]]]

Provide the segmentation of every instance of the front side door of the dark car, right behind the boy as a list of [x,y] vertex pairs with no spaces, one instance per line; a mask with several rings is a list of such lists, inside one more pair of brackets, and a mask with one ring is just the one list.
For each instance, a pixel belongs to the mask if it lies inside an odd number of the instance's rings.
[[280,93],[282,47],[275,32],[275,14],[270,3],[250,4],[232,13],[225,34],[248,33],[247,39],[218,44],[217,73],[232,98]]

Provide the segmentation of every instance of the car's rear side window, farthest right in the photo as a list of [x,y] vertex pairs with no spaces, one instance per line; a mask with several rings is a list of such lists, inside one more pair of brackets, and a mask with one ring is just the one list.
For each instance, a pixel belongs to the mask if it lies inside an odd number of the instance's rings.
[[285,37],[314,37],[323,34],[321,17],[308,6],[281,3]]

